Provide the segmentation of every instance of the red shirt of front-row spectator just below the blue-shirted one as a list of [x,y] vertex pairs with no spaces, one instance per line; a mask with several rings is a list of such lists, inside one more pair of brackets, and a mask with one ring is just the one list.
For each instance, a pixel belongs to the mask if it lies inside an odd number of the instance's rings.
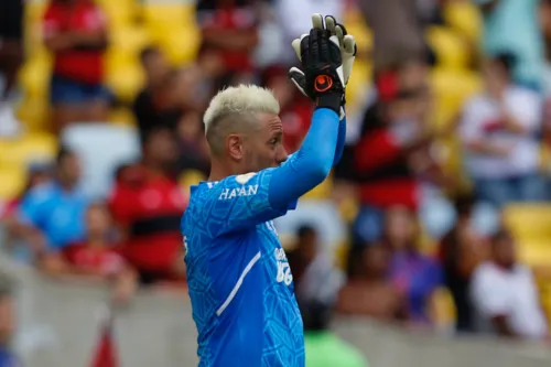
[[109,247],[91,247],[88,244],[75,244],[64,249],[65,259],[84,271],[99,272],[104,276],[119,273],[125,259],[115,249]]

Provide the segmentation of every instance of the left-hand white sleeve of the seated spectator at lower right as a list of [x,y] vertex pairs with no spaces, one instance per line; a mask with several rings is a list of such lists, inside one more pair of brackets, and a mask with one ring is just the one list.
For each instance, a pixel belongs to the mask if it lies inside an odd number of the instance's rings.
[[501,281],[491,269],[478,269],[472,287],[473,302],[483,315],[494,317],[509,313],[508,292],[504,291]]

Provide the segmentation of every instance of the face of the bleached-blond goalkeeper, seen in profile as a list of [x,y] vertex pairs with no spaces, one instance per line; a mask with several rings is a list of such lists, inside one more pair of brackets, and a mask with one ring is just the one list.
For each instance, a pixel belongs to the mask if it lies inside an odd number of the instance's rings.
[[278,115],[259,114],[258,128],[244,138],[244,165],[247,172],[279,166],[287,161],[283,125]]

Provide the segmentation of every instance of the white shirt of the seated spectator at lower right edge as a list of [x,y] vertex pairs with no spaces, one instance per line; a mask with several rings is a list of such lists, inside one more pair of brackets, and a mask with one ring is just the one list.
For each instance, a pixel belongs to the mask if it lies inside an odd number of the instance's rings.
[[482,328],[491,330],[490,320],[504,315],[515,333],[528,338],[545,336],[547,321],[527,267],[517,265],[506,271],[493,262],[480,265],[473,277],[471,295]]

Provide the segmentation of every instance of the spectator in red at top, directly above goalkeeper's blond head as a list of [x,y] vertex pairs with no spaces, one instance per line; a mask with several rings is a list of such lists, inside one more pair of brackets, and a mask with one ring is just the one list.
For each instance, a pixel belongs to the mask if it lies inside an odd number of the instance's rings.
[[259,13],[255,2],[255,0],[197,2],[197,23],[203,35],[201,53],[217,54],[223,61],[224,74],[237,74],[236,79],[249,75],[255,68],[252,51],[259,39]]

